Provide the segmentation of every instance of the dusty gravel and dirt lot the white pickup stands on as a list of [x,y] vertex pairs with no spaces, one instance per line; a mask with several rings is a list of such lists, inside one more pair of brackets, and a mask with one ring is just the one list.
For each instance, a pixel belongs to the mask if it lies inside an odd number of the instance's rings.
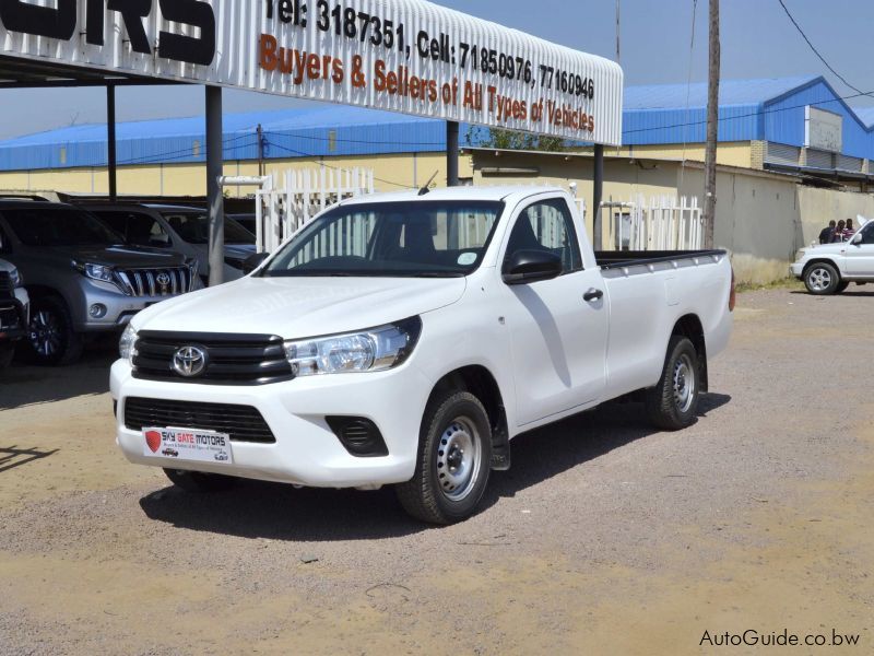
[[111,354],[16,366],[0,653],[748,653],[717,644],[784,630],[827,641],[789,653],[874,653],[866,289],[742,294],[695,426],[612,405],[521,436],[448,528],[390,490],[185,494],[117,450]]

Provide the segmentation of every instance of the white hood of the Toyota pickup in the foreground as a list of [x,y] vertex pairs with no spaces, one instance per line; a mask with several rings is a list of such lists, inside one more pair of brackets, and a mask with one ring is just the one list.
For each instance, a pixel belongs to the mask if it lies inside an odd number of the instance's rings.
[[451,305],[464,278],[243,278],[153,305],[137,330],[279,335],[373,328]]

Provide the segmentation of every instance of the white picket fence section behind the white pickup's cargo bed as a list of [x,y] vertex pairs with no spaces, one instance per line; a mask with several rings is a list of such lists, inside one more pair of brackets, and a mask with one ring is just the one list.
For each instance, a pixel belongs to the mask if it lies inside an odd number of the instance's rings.
[[601,203],[604,250],[696,250],[704,247],[698,199],[637,196]]

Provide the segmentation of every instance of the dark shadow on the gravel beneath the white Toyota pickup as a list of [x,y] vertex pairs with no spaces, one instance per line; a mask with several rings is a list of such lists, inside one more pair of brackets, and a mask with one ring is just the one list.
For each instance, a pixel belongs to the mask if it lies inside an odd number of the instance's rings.
[[[702,396],[699,417],[729,401],[731,397],[727,395]],[[641,405],[609,403],[520,435],[512,442],[512,468],[493,472],[482,509],[656,433],[658,430],[648,424]],[[295,490],[292,485],[240,481],[227,492],[191,494],[170,485],[143,496],[140,506],[150,519],[243,538],[364,540],[401,537],[429,528],[404,513],[391,488],[377,492]]]

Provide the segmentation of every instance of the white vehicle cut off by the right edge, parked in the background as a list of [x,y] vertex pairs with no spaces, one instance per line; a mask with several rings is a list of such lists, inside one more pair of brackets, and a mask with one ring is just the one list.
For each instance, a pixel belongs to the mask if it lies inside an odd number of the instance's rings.
[[802,248],[789,272],[818,296],[839,294],[851,282],[874,282],[874,221],[859,218],[861,227],[849,242]]

